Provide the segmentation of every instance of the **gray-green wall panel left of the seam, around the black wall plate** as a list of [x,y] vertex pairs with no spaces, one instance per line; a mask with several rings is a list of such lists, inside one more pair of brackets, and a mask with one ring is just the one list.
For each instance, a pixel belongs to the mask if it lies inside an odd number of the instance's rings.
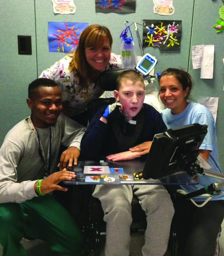
[[[29,114],[27,85],[37,76],[34,0],[4,1],[0,24],[1,144],[8,130]],[[18,55],[18,35],[32,36],[32,55]]]

